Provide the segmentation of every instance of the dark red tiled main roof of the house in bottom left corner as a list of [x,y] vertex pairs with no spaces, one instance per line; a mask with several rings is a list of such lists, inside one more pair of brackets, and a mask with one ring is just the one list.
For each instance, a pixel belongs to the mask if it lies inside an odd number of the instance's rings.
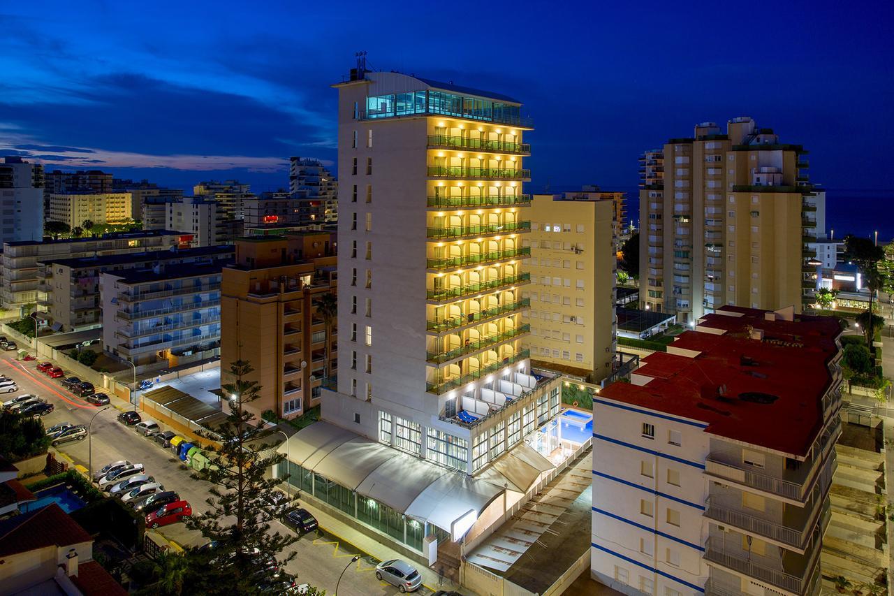
[[0,522],[0,557],[91,540],[89,533],[55,503]]

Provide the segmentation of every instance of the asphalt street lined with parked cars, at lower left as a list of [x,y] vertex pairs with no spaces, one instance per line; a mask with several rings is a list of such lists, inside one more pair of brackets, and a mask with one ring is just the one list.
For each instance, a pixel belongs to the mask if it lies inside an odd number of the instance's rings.
[[[59,422],[89,424],[96,414],[91,438],[63,444],[57,448],[58,451],[71,457],[75,464],[87,468],[92,450],[94,471],[120,459],[139,462],[145,465],[147,473],[154,476],[156,481],[164,484],[166,490],[176,490],[181,498],[190,501],[194,511],[207,510],[206,498],[211,486],[208,482],[192,479],[190,471],[170,450],[140,437],[116,420],[120,411],[131,409],[130,404],[113,397],[112,404],[115,407],[97,414],[101,407],[97,408],[80,397],[73,396],[59,384],[61,379],[49,379],[38,372],[37,364],[38,362],[17,362],[5,353],[0,357],[0,374],[11,377],[19,385],[19,391],[4,396],[4,400],[20,393],[31,393],[55,404],[55,411],[42,419],[47,428]],[[274,522],[273,525],[276,531],[291,532],[290,528],[279,522]],[[187,530],[183,524],[164,526],[158,532],[183,546],[207,542],[199,532]],[[350,545],[340,544],[333,537],[318,537],[316,534],[301,537],[289,550],[295,550],[297,557],[286,566],[286,570],[295,575],[299,583],[316,585],[328,593],[334,592],[342,570],[350,563],[351,556],[357,554]],[[339,593],[345,596],[399,593],[392,585],[376,580],[374,568],[367,559],[361,558],[342,577]],[[423,588],[418,593],[426,592]]]

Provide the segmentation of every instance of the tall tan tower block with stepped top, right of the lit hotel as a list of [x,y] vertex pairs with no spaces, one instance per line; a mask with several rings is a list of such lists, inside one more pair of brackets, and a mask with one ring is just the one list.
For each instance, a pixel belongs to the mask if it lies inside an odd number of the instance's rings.
[[717,305],[811,301],[815,189],[800,145],[748,117],[640,159],[640,306],[695,324]]

